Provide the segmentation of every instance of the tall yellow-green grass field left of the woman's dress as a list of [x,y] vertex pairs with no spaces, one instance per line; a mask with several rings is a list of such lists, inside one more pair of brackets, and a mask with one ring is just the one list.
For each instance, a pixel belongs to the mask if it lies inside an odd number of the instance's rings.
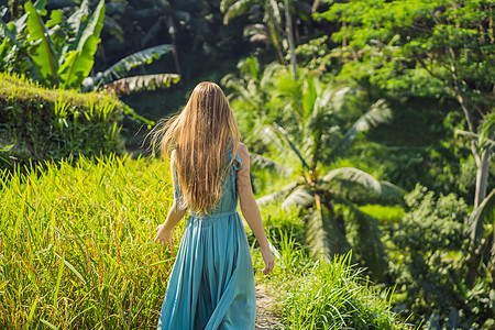
[[172,201],[168,166],[44,167],[0,173],[0,329],[155,328],[174,262],[152,242]]

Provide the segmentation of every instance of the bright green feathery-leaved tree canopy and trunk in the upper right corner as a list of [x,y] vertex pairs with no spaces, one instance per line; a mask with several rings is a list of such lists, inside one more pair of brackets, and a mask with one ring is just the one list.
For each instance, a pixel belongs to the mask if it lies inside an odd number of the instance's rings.
[[[494,111],[493,1],[350,1],[319,18],[345,53],[342,75],[408,95],[451,98],[471,133]],[[393,13],[393,16],[391,16]],[[361,50],[358,54],[353,50]],[[476,162],[475,206],[486,196],[490,152],[470,144]]]

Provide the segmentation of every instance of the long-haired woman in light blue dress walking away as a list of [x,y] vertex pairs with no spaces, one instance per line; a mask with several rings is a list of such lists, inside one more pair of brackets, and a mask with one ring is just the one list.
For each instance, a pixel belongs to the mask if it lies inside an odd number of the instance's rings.
[[170,154],[174,204],[155,242],[173,248],[172,230],[189,209],[158,329],[254,329],[254,274],[241,210],[260,243],[263,274],[274,256],[250,178],[250,155],[219,86],[201,82],[185,109],[152,140]]

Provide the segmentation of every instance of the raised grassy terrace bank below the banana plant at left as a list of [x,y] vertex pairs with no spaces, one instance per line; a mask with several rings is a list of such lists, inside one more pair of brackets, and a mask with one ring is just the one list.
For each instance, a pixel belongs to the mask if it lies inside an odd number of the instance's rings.
[[122,152],[121,121],[134,114],[109,94],[52,90],[2,73],[0,108],[0,168]]

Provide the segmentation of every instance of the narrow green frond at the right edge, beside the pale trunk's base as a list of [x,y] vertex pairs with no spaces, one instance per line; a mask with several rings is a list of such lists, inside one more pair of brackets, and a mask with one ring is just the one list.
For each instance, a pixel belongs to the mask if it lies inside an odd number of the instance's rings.
[[495,189],[483,200],[483,202],[471,213],[468,220],[466,233],[471,239],[471,251],[480,245],[485,232],[485,222],[494,220]]

